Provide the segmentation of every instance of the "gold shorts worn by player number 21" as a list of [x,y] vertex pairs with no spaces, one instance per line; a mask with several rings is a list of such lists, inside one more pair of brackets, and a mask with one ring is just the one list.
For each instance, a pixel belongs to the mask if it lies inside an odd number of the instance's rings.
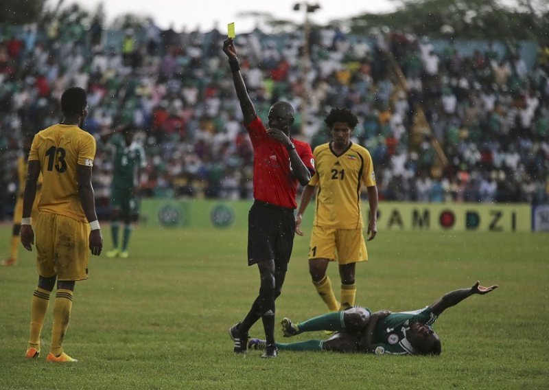
[[314,226],[309,246],[309,259],[328,259],[339,264],[368,260],[362,229],[325,229]]

